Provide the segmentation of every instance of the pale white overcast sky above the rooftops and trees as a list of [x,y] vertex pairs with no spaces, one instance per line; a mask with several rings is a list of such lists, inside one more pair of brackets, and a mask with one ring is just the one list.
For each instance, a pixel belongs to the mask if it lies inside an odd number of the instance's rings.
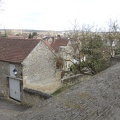
[[0,28],[69,30],[79,25],[105,27],[120,19],[120,0],[2,0]]

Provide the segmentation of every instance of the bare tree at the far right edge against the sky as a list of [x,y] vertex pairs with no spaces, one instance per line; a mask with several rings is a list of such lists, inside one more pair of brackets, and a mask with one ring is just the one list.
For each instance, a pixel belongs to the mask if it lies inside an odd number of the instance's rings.
[[108,22],[108,31],[103,35],[106,46],[105,52],[108,52],[110,57],[115,56],[115,51],[120,47],[120,26],[118,20],[110,20]]

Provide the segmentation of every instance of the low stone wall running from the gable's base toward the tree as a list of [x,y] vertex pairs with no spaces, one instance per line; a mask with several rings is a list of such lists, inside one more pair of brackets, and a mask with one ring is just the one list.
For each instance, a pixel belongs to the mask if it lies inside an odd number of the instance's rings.
[[82,80],[90,79],[91,77],[92,76],[90,75],[77,74],[77,75],[72,75],[72,76],[61,79],[61,83],[63,85],[70,85],[70,84],[81,82]]

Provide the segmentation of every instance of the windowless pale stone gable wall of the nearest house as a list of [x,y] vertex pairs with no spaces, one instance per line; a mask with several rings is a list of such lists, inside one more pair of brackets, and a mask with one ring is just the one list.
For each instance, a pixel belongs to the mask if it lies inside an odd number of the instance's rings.
[[55,55],[41,41],[23,61],[23,87],[51,94],[61,85]]

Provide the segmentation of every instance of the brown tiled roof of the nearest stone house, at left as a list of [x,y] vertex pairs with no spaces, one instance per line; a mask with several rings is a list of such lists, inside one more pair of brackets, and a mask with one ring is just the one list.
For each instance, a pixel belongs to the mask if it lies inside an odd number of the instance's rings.
[[21,63],[40,40],[0,38],[0,60]]

